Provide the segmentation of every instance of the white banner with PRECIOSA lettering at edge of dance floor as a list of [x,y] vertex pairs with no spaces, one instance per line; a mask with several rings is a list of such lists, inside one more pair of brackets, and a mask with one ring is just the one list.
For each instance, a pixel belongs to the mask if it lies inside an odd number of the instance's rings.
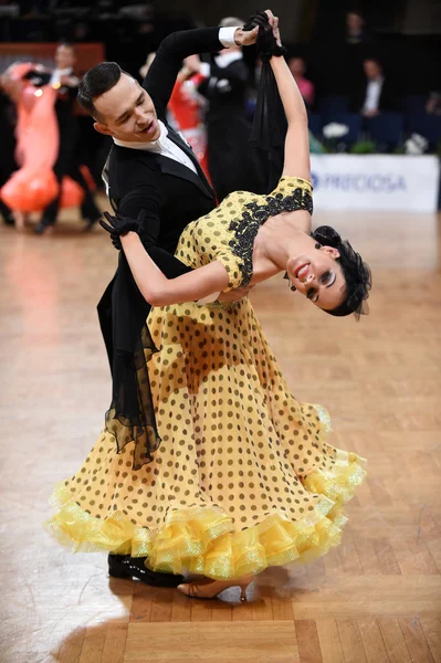
[[439,159],[432,155],[311,155],[317,210],[433,212]]

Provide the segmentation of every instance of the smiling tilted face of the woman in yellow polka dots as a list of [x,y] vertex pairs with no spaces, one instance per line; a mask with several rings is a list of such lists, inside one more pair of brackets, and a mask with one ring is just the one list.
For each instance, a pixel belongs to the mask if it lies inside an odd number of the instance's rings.
[[345,299],[346,282],[333,246],[321,246],[308,254],[291,256],[286,271],[292,285],[313,304],[332,311]]

